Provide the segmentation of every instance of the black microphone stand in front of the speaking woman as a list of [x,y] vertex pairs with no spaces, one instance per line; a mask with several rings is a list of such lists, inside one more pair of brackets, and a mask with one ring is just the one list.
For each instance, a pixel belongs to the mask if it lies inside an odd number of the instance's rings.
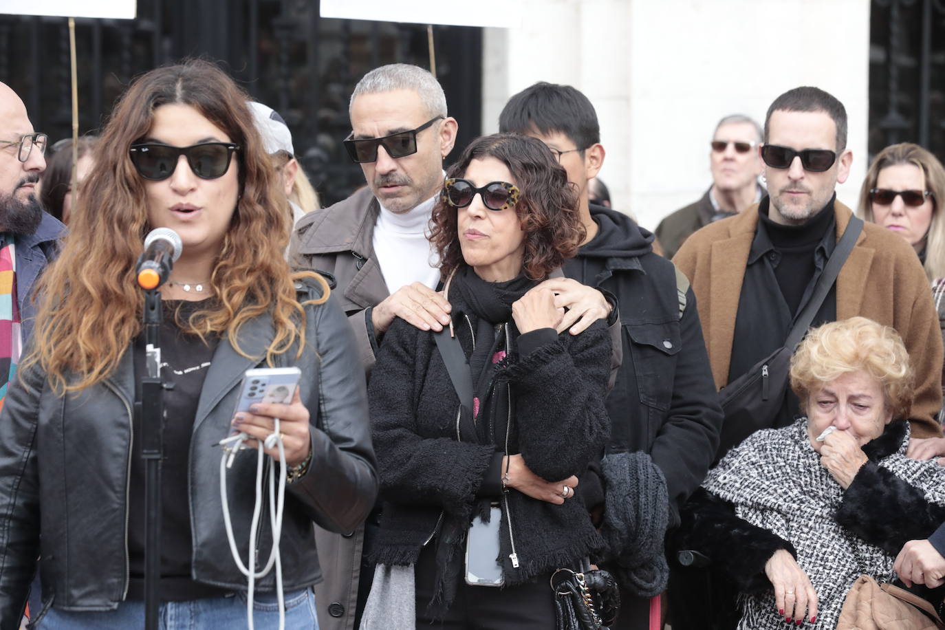
[[145,628],[158,630],[161,603],[161,465],[163,461],[163,389],[160,330],[161,292],[145,292],[146,375],[141,379],[141,456],[145,461]]

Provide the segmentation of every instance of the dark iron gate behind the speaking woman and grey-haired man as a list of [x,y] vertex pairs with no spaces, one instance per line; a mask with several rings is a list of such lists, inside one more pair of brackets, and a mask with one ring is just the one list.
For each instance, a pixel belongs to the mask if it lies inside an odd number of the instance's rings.
[[[322,19],[317,0],[138,0],[137,12],[77,20],[80,132],[101,127],[132,77],[185,57],[218,60],[283,115],[323,204],[364,183],[341,146],[357,80],[383,63],[429,66],[426,26]],[[435,26],[434,36],[462,147],[481,128],[482,29]],[[0,15],[0,80],[24,98],[35,128],[53,141],[68,136],[66,19]]]

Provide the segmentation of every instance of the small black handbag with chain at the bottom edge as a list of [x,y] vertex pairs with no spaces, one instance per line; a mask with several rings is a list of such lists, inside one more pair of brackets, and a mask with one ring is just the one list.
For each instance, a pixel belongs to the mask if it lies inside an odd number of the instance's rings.
[[558,569],[551,589],[557,630],[607,630],[620,614],[620,588],[609,571]]

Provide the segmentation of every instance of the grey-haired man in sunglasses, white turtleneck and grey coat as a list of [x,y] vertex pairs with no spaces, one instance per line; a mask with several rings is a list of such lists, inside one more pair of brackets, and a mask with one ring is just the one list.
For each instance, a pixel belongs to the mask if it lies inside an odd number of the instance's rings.
[[[447,115],[437,79],[414,65],[370,71],[354,88],[352,133],[345,148],[368,187],[297,224],[289,260],[334,276],[366,373],[395,317],[423,330],[449,324],[449,304],[436,293],[436,252],[426,238],[453,149],[456,121]],[[369,592],[372,569],[362,552],[379,525],[375,510],[348,536],[316,528],[324,580],[316,587],[322,630],[352,630]],[[366,533],[367,529],[367,533]]]

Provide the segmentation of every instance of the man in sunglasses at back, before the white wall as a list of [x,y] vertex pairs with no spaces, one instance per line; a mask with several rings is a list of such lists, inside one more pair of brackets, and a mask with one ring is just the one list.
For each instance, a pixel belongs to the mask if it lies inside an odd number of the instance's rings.
[[665,217],[656,229],[663,255],[672,258],[689,235],[761,201],[758,183],[764,163],[758,153],[762,128],[745,114],[726,116],[715,126],[709,165],[713,184],[698,201]]

